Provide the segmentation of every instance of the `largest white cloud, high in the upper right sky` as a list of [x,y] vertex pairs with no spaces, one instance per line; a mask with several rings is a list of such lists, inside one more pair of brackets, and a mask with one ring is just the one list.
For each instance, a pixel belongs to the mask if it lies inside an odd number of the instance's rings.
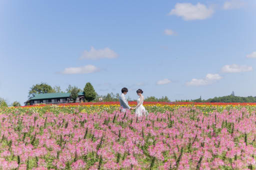
[[206,19],[213,14],[212,7],[197,3],[176,3],[175,8],[171,9],[169,15],[177,15],[183,17],[184,20]]

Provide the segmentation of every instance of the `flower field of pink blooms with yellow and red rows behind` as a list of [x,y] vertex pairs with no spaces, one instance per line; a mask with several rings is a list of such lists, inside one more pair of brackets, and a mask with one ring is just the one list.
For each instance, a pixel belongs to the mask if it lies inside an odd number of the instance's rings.
[[[132,105],[132,103],[131,103]],[[0,110],[3,170],[240,170],[256,168],[254,104],[117,103]]]

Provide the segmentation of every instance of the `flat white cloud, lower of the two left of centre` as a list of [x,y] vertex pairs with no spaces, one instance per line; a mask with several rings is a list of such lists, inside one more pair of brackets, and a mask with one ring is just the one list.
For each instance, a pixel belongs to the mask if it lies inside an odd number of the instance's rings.
[[85,65],[82,67],[69,67],[62,71],[62,74],[87,74],[99,71],[99,68],[94,65]]

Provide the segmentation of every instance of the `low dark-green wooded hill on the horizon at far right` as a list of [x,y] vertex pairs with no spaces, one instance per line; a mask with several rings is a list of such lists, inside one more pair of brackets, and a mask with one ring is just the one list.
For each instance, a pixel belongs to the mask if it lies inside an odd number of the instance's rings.
[[201,100],[199,98],[199,99],[191,100],[191,102],[256,103],[256,96],[255,97],[252,97],[252,96],[239,97],[239,96],[229,95],[229,96],[223,96],[223,97],[214,97],[212,99],[207,99],[207,100]]

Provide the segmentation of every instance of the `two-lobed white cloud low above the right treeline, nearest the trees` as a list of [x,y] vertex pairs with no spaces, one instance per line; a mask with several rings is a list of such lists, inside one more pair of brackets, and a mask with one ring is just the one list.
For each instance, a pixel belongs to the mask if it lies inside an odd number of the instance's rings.
[[208,84],[212,84],[217,80],[222,79],[222,77],[218,74],[206,74],[203,79],[195,79],[193,78],[191,81],[187,82],[187,86],[205,86]]

